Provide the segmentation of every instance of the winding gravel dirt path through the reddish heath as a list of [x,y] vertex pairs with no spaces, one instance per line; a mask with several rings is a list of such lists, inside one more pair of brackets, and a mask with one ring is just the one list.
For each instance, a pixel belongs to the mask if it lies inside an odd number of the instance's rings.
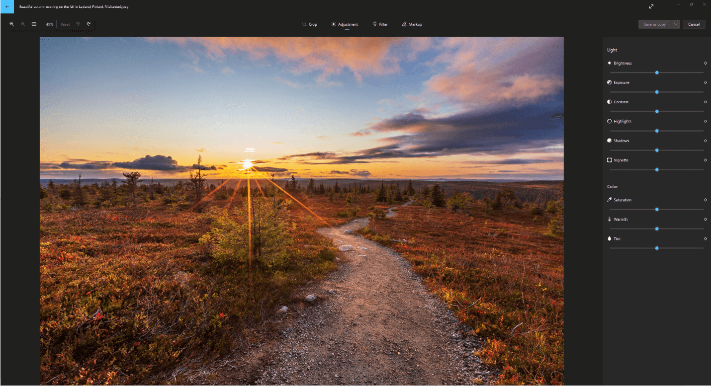
[[318,299],[304,302],[301,310],[294,307],[295,318],[283,336],[254,348],[251,359],[242,360],[252,364],[250,374],[235,373],[231,383],[471,385],[478,377],[491,380],[492,374],[479,374],[488,370],[472,355],[481,348],[478,338],[422,286],[410,263],[389,248],[346,234],[367,224],[368,218],[360,218],[319,230],[334,245],[354,250],[342,252],[338,270],[323,282],[299,291],[300,299],[307,294]]

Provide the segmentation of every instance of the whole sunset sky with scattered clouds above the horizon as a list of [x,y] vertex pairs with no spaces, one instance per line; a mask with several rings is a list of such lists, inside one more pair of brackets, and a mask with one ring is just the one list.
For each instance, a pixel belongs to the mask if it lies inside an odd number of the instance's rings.
[[[563,178],[563,38],[42,38],[40,178]],[[252,151],[253,150],[253,151]]]

